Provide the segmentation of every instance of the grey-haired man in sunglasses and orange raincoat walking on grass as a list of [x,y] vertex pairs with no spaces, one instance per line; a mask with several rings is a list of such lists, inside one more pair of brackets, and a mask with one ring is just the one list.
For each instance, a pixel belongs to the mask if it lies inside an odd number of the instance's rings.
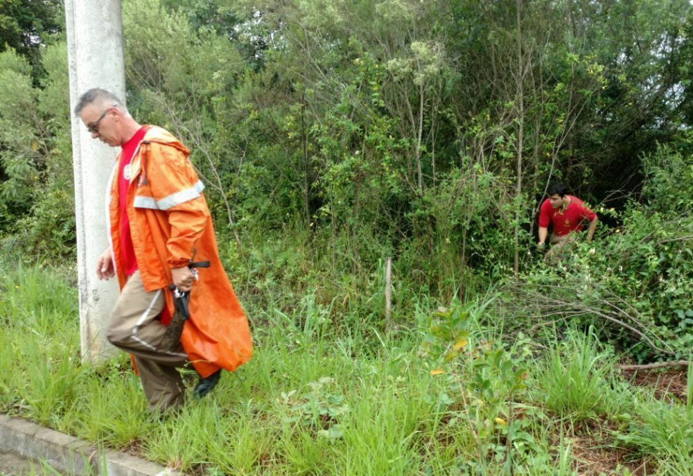
[[[108,340],[132,354],[150,409],[182,405],[179,367],[200,374],[195,396],[213,389],[222,369],[252,355],[248,321],[219,259],[204,184],[189,151],[160,127],[140,125],[114,94],[90,89],[75,114],[94,139],[120,147],[108,196],[109,248],[98,259],[99,279],[118,277],[121,295]],[[188,264],[209,261],[199,278]],[[177,348],[161,339],[174,312],[168,286],[190,292],[189,314]]]

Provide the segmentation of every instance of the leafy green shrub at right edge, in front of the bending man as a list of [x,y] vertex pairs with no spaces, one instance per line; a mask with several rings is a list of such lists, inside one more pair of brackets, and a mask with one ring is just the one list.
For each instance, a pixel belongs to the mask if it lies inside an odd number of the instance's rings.
[[693,165],[665,147],[643,164],[641,200],[617,214],[620,226],[530,270],[517,304],[538,319],[594,321],[638,360],[683,358],[693,344]]

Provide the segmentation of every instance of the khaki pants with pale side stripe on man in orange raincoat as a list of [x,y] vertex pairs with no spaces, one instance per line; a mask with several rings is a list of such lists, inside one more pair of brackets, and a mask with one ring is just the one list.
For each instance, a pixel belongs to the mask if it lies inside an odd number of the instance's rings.
[[146,292],[139,271],[134,272],[125,283],[108,323],[108,341],[133,355],[152,411],[183,404],[184,386],[178,367],[188,362],[180,345],[171,352],[157,351],[166,332],[166,326],[159,321],[159,313],[165,306],[164,292]]

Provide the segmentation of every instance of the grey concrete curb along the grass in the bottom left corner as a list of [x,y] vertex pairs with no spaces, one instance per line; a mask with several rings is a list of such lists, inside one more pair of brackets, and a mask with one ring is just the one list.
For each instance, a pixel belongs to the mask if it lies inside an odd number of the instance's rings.
[[123,452],[0,414],[0,448],[79,476],[184,476]]

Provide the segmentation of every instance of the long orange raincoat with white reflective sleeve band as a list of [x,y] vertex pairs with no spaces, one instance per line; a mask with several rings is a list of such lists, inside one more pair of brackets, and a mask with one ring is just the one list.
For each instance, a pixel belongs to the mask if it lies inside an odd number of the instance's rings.
[[[145,290],[166,288],[166,308],[173,315],[168,292],[171,268],[184,267],[197,250],[200,280],[190,293],[190,319],[181,336],[195,370],[207,377],[219,368],[234,371],[252,356],[248,321],[219,259],[214,229],[201,195],[204,185],[188,160],[190,152],[170,132],[148,126],[130,163],[127,200],[130,233]],[[120,251],[118,180],[120,155],[110,179],[108,211],[110,245],[118,281],[128,276]]]

